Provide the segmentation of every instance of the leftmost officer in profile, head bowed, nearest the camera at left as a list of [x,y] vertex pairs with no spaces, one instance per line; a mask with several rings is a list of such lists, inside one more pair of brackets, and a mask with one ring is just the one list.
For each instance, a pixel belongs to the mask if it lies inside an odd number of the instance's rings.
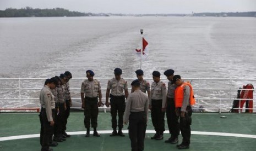
[[39,117],[41,123],[41,151],[52,150],[49,148],[49,145],[53,135],[53,126],[55,124],[55,101],[51,89],[55,89],[56,85],[58,85],[56,78],[46,79],[45,85],[40,92],[41,112]]

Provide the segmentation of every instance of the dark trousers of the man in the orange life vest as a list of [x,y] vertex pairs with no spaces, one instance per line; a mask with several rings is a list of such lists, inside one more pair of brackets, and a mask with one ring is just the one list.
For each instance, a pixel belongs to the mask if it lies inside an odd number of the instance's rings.
[[[192,109],[191,106],[187,106],[187,112],[185,113],[185,117],[179,117],[179,129],[181,129],[181,135],[183,137],[182,143],[184,145],[190,144],[190,135],[191,135],[191,129],[190,125],[192,124]],[[181,108],[179,108],[179,113],[181,113]]]

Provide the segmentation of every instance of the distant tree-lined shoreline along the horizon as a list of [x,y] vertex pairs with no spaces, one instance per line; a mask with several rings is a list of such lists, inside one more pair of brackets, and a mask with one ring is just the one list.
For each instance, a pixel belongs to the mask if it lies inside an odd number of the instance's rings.
[[0,10],[0,18],[24,17],[74,17],[74,16],[214,16],[214,17],[256,17],[256,11],[248,12],[221,12],[221,13],[191,13],[191,14],[113,14],[113,13],[81,13],[63,8],[33,9],[31,7]]

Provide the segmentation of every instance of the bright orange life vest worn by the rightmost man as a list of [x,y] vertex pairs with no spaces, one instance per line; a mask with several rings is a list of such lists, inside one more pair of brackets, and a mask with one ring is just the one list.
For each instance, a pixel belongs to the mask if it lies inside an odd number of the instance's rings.
[[190,83],[184,82],[182,85],[175,89],[175,107],[182,107],[183,97],[184,97],[184,87],[188,85],[190,87],[190,106],[195,104],[194,92],[192,85]]

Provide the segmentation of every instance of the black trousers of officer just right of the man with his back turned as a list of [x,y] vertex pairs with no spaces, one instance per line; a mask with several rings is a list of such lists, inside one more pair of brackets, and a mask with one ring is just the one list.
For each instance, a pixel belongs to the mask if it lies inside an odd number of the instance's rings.
[[162,112],[162,100],[152,99],[151,119],[156,132],[165,131],[165,112]]

